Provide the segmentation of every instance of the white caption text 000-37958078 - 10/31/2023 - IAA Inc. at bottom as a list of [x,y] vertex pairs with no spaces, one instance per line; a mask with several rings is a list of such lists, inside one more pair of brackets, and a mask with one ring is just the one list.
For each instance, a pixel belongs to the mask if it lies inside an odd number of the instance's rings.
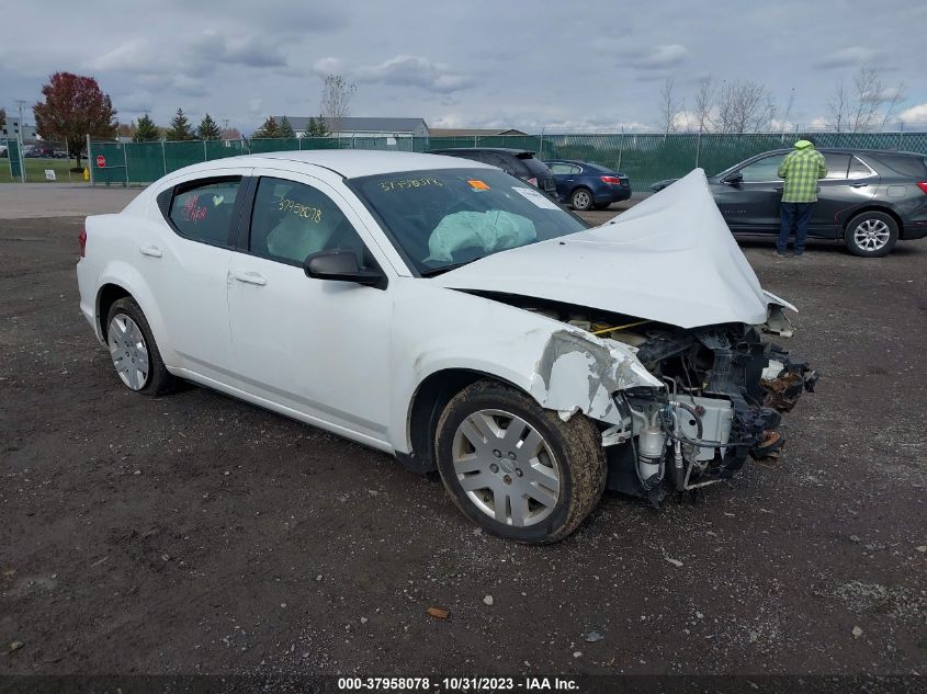
[[398,692],[577,692],[579,685],[568,678],[338,678],[339,691]]

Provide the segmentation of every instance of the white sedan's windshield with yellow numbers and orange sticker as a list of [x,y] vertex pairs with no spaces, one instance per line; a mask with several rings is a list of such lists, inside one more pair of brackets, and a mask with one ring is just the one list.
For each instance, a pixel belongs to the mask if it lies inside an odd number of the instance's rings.
[[348,181],[422,276],[588,228],[538,189],[496,169],[444,169]]

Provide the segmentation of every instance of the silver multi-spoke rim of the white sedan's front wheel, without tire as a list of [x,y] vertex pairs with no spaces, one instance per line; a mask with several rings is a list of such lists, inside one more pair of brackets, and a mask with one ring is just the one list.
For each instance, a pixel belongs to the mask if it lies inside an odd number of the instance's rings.
[[561,474],[551,447],[523,419],[478,410],[457,426],[452,445],[457,483],[499,523],[534,525],[553,513]]

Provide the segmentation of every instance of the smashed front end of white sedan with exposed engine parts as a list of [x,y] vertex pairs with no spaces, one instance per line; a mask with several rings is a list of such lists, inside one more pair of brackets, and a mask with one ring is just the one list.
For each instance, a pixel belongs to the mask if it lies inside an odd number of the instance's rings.
[[732,477],[748,456],[777,458],[785,441],[781,413],[817,379],[757,327],[743,323],[658,326],[609,337],[634,346],[665,384],[615,390],[622,421],[602,436],[608,487],[654,504],[668,491]]

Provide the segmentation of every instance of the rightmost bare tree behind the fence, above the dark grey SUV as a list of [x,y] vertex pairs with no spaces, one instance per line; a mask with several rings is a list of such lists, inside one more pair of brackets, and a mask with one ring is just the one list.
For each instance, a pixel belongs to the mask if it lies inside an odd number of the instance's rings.
[[886,87],[879,68],[862,66],[852,86],[840,80],[827,100],[827,127],[837,133],[862,133],[884,126],[904,101],[904,83]]

